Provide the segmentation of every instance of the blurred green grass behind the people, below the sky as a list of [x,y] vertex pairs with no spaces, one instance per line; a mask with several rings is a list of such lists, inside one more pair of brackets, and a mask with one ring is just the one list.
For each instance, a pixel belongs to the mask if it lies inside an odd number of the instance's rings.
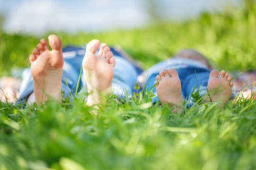
[[[28,57],[39,40],[56,34],[63,46],[81,45],[99,39],[109,45],[120,45],[144,69],[170,58],[183,48],[200,51],[215,68],[232,70],[256,69],[256,5],[245,1],[244,8],[221,13],[202,13],[183,22],[154,22],[143,28],[100,33],[48,31],[43,36],[7,34],[0,29],[0,76],[11,68],[28,67]],[[0,19],[3,23],[4,17]]]

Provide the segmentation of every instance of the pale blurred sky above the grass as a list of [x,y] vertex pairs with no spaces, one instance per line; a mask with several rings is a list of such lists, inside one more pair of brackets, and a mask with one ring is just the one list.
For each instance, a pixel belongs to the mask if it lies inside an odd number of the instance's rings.
[[240,4],[241,0],[0,0],[0,14],[9,33],[93,32],[144,26],[152,14],[177,21]]

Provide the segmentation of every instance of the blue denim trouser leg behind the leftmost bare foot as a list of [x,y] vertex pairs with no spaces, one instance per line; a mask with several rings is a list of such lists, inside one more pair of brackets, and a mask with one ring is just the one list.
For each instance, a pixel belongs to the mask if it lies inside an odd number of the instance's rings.
[[[83,55],[81,54],[83,51]],[[69,99],[72,101],[73,96],[76,92],[77,82],[81,70],[82,59],[84,57],[85,48],[82,47],[71,47],[68,49],[64,48],[63,57],[64,57],[64,65],[63,72],[61,78],[61,87],[63,91],[63,95],[65,97],[71,96]],[[82,83],[80,83],[82,86]],[[80,86],[79,85],[79,86]],[[79,89],[79,88],[78,88]],[[33,77],[31,75],[30,68],[26,68],[22,72],[22,83],[19,87],[20,97],[16,101],[17,104],[24,105],[33,104],[36,102],[35,93],[34,93],[34,85],[33,85]],[[77,94],[78,96],[78,94]]]

